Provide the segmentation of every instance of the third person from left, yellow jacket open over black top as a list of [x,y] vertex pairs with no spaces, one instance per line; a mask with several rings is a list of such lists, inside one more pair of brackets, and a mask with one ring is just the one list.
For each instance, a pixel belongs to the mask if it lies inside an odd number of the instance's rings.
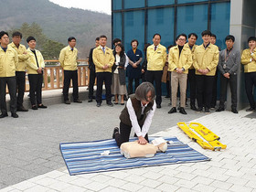
[[40,51],[36,49],[37,41],[35,37],[27,37],[27,45],[27,54],[29,56],[27,61],[27,74],[32,110],[47,108],[47,106],[42,103],[42,83],[45,61]]

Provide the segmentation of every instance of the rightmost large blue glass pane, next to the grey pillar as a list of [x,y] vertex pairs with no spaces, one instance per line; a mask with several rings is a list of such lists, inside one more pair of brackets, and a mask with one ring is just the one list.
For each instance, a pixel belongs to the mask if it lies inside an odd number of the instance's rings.
[[211,5],[211,32],[217,36],[216,45],[225,48],[225,37],[229,35],[230,3]]

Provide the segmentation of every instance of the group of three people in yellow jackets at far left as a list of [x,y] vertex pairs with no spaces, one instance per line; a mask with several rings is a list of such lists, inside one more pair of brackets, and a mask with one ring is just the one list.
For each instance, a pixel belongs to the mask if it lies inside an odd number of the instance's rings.
[[29,80],[29,96],[32,110],[47,108],[42,103],[42,82],[45,62],[40,51],[36,49],[35,37],[27,37],[26,48],[20,44],[22,34],[13,33],[13,42],[9,44],[9,35],[0,32],[0,118],[8,116],[5,94],[6,85],[10,95],[11,116],[17,118],[16,112],[27,112],[23,106],[26,86],[26,70]]

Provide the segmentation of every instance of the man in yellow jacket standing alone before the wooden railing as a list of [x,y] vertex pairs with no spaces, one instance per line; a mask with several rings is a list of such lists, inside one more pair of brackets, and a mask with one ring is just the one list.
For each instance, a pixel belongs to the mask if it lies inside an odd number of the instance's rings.
[[59,53],[59,63],[64,70],[63,96],[64,103],[70,104],[69,101],[69,85],[72,80],[73,85],[73,101],[81,103],[79,99],[79,82],[78,82],[78,49],[75,48],[77,39],[75,37],[68,38],[69,46],[62,48]]

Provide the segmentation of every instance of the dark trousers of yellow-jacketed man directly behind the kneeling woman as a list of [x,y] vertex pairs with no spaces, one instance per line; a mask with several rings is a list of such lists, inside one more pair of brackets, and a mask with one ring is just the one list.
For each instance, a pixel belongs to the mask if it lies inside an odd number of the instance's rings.
[[155,102],[156,104],[161,104],[162,102],[162,75],[163,70],[147,70],[146,80],[154,85],[155,81]]

